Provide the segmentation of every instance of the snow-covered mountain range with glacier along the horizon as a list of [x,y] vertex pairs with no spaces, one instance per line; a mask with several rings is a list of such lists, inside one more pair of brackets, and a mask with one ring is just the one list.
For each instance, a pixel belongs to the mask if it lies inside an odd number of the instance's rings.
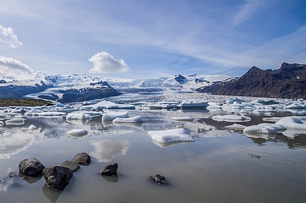
[[42,98],[71,103],[106,98],[133,92],[193,92],[197,88],[228,80],[228,76],[175,75],[152,79],[124,79],[106,76],[46,76],[37,72],[31,77],[0,80],[0,98]]

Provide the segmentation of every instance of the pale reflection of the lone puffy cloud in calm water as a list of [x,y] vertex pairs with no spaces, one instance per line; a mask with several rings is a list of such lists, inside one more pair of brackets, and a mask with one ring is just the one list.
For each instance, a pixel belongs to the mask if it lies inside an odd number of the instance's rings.
[[89,155],[95,157],[99,162],[111,162],[116,155],[126,155],[131,147],[130,142],[119,140],[91,141],[91,145],[94,149],[89,152]]

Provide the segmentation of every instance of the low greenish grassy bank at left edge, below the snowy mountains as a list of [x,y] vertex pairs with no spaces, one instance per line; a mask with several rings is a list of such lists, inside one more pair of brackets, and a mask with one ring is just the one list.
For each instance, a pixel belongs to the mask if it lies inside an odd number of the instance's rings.
[[50,105],[51,101],[46,100],[34,100],[34,99],[1,99],[0,107],[5,106],[38,106],[38,105]]

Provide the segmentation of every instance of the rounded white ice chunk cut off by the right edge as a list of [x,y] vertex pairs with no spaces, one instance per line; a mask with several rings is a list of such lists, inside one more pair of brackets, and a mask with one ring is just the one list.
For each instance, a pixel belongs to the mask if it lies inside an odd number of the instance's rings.
[[303,117],[289,116],[278,120],[275,124],[282,125],[287,129],[306,130],[306,121]]

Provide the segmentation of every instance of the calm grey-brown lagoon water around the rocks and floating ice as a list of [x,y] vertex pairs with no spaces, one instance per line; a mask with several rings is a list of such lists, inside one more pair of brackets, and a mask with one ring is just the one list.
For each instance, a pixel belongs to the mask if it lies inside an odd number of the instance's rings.
[[[192,96],[124,94],[106,100],[156,102]],[[221,99],[206,97],[208,101]],[[286,109],[289,105],[283,101],[276,108],[223,105],[186,110],[113,110],[128,112],[129,117],[141,115],[143,122],[135,124],[104,121],[102,115],[69,122],[66,115],[31,116],[13,125],[3,119],[0,202],[305,202],[306,132],[249,135],[225,128],[234,123],[250,126],[275,123],[264,120],[305,115],[302,109]],[[212,119],[216,115],[245,114],[242,109],[251,120]],[[31,125],[36,130],[23,130]],[[148,131],[179,127],[186,129],[194,141],[161,143],[148,135]],[[88,134],[67,135],[73,129],[85,129]],[[46,186],[41,175],[19,175],[19,162],[25,158],[36,157],[48,167],[72,160],[79,152],[88,153],[91,164],[81,165],[73,172],[71,182],[59,191]],[[118,176],[102,177],[100,170],[113,162],[118,163]],[[9,177],[9,172],[16,177]],[[163,175],[165,184],[153,182],[149,177],[154,174]]]

